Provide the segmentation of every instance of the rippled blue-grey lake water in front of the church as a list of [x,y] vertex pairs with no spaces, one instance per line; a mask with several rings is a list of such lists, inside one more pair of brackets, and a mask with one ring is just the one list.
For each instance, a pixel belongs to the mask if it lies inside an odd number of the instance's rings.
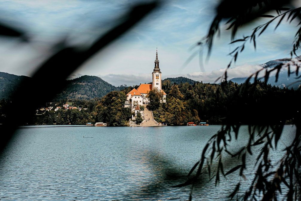
[[[207,140],[220,126],[22,127],[0,156],[0,199],[11,200],[187,200],[187,179]],[[241,139],[247,136],[241,128]],[[285,126],[278,149],[295,129]],[[245,134],[243,134],[245,133]],[[243,146],[243,140],[234,142]],[[256,152],[256,150],[255,150]],[[283,152],[275,152],[272,159]],[[248,161],[254,161],[248,156]],[[247,169],[252,180],[253,166]],[[227,168],[227,162],[225,164]],[[194,188],[194,200],[226,200],[237,174]]]

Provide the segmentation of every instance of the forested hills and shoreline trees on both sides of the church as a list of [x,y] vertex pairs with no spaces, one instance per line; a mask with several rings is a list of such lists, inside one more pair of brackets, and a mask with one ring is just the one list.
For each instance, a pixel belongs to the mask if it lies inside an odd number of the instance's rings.
[[[8,98],[20,81],[31,78],[7,73],[0,73],[0,76],[0,121],[4,122],[6,114],[14,104],[2,99]],[[87,122],[106,122],[109,126],[127,124],[132,113],[129,108],[123,108],[125,95],[138,85],[115,87],[96,76],[82,76],[66,82],[67,87],[54,100],[37,105],[35,118],[28,119],[28,124],[85,124]],[[275,119],[293,123],[290,110],[282,111],[284,107],[281,105],[288,99],[291,105],[299,105],[295,101],[298,98],[293,97],[301,96],[300,90],[280,88],[262,81],[258,81],[256,85],[249,84],[247,89],[244,87],[245,85],[231,80],[210,84],[184,77],[167,78],[162,82],[162,89],[167,94],[166,103],[157,102],[157,105],[151,106],[154,118],[168,125],[186,125],[190,121],[225,124],[224,117],[229,116],[230,113],[233,114],[233,121],[242,124],[253,121],[275,123]],[[246,93],[242,93],[242,89]],[[72,102],[76,109],[54,111],[58,106],[63,107],[66,102]],[[272,110],[267,111],[266,104],[269,104],[268,108]],[[51,111],[45,111],[48,107],[52,108]],[[41,112],[41,108],[45,110]],[[79,111],[79,108],[85,109]],[[241,114],[241,111],[244,111],[244,114]],[[263,113],[255,113],[255,111],[263,111]],[[278,114],[286,115],[279,117]]]

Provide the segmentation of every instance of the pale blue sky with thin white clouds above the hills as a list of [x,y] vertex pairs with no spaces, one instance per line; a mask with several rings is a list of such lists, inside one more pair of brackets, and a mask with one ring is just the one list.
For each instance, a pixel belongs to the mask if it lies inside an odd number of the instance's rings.
[[[31,76],[45,58],[54,53],[57,42],[65,39],[70,46],[88,46],[97,36],[120,22],[123,14],[138,0],[2,0],[0,20],[26,32],[30,42],[0,37],[0,71]],[[222,34],[214,40],[208,61],[200,62],[198,48],[192,48],[209,29],[218,1],[163,1],[135,27],[85,62],[70,78],[94,75],[119,86],[151,82],[156,48],[162,77],[188,77],[213,83],[225,71],[236,48],[222,23]],[[268,18],[261,18],[242,28],[237,39]],[[257,38],[257,49],[245,47],[228,72],[229,78],[247,77],[260,69],[259,64],[290,57],[298,22],[271,24]],[[206,52],[204,52],[206,55]],[[194,57],[192,57],[195,55]],[[192,59],[189,59],[191,58]],[[205,57],[205,56],[204,56]],[[187,63],[187,61],[189,62]],[[202,65],[200,65],[200,63]],[[203,66],[203,68],[201,68]],[[62,70],[66,67],[62,67]],[[48,76],[56,73],[49,69]]]

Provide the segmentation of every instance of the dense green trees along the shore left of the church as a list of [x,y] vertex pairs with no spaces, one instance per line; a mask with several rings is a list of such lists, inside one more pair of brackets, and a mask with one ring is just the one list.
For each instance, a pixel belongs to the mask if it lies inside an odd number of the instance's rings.
[[[105,122],[108,126],[124,126],[127,124],[132,113],[130,108],[123,108],[125,101],[123,92],[112,91],[101,100],[72,100],[73,105],[87,108],[82,109],[59,109],[58,111],[46,111],[45,113],[35,115],[33,122],[29,124],[57,124],[57,125],[85,125],[86,123]],[[51,105],[63,105],[64,102]],[[49,104],[48,104],[49,105]],[[0,107],[1,109],[1,107]]]

